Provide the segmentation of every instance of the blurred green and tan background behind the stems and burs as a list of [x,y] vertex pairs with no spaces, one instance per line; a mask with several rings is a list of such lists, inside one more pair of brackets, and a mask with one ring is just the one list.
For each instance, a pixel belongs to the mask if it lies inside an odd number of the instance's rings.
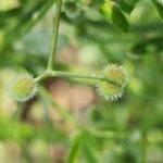
[[[62,78],[43,86],[88,128],[113,137],[86,138],[77,163],[163,162],[163,24],[150,0],[138,2],[124,34],[104,21],[98,0],[63,10],[55,68],[99,73],[120,63],[129,83],[121,100],[105,102],[92,84]],[[51,51],[55,0],[0,0],[0,163],[64,163],[76,130],[38,95],[25,104],[8,95],[15,72],[39,75]],[[76,148],[77,150],[77,148]]]

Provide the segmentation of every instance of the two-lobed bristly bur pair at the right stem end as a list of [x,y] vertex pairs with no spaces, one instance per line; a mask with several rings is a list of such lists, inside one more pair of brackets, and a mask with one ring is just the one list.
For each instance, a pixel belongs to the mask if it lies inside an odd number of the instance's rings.
[[108,65],[98,84],[98,92],[108,101],[114,101],[122,97],[127,84],[127,75],[124,68],[116,64]]

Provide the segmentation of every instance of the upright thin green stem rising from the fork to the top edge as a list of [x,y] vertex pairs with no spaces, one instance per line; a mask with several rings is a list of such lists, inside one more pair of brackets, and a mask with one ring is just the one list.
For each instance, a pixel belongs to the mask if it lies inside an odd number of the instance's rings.
[[53,70],[54,58],[55,58],[57,46],[58,46],[61,10],[62,10],[62,0],[57,0],[57,9],[55,9],[54,17],[53,17],[52,52],[48,61],[48,67],[47,67],[48,71]]

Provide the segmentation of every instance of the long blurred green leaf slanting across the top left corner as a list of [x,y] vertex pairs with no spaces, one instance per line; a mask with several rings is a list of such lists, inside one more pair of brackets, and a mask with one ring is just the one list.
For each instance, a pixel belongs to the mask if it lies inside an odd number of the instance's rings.
[[[15,39],[24,36],[29,29],[32,29],[32,27],[36,25],[41,20],[41,17],[49,11],[49,9],[52,7],[53,1],[54,0],[49,0],[46,3],[45,0],[37,0],[35,3],[28,2],[28,5],[22,3],[21,13],[16,13],[20,15],[18,21],[15,23],[15,25],[12,26],[12,28],[7,28],[8,30],[3,37],[3,47],[5,48],[5,46],[9,46]],[[38,14],[34,18],[35,13]]]

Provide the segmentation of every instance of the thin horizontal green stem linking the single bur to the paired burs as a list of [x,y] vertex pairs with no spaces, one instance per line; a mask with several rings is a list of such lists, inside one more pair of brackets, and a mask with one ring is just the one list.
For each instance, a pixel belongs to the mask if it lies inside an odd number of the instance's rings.
[[49,71],[49,72],[46,72],[45,74],[38,76],[35,79],[35,82],[38,83],[48,77],[66,77],[66,78],[83,78],[83,79],[103,80],[103,78],[100,76],[83,75],[83,74],[79,75],[79,74],[68,73],[68,72]]

